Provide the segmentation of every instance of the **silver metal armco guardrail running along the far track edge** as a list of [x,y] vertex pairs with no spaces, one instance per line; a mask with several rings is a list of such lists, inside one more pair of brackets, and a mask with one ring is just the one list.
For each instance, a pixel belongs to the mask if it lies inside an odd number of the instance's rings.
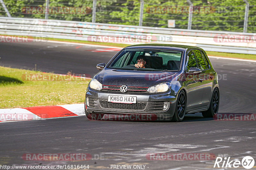
[[[0,17],[0,34],[47,36],[48,38],[85,41],[91,41],[90,37],[92,35],[108,37],[136,35],[141,39],[146,39],[145,37],[151,36],[155,37],[152,41],[153,43],[199,46],[206,51],[256,54],[256,40],[253,39],[256,37],[256,33],[186,30],[78,21]],[[216,42],[216,36],[223,36],[224,41]],[[233,36],[233,38],[225,39],[225,36]],[[168,38],[162,39],[161,37]],[[244,39],[242,39],[243,37]],[[249,40],[248,38],[252,39]],[[236,42],[230,42],[230,40]],[[136,43],[124,43],[138,44],[138,41]]]

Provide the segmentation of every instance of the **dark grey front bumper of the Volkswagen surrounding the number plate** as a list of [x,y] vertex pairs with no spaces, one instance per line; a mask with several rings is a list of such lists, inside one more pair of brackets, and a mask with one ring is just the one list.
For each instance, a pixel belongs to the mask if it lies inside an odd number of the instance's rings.
[[[136,96],[137,104],[107,102],[108,95]],[[86,104],[85,99],[85,109],[89,118],[95,120],[168,121],[171,120],[176,108],[176,96],[172,96],[171,91],[157,94],[121,93],[118,91],[96,91],[88,88],[85,96],[90,99],[89,105]],[[167,110],[161,109],[161,104],[164,102],[169,104]]]

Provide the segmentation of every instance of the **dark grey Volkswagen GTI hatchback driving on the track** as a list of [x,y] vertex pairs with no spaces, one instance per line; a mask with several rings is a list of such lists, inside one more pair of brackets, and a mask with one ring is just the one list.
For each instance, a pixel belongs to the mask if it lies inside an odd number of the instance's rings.
[[202,112],[204,117],[218,113],[217,73],[199,47],[128,46],[97,68],[101,71],[85,95],[88,119],[179,122],[188,113]]

